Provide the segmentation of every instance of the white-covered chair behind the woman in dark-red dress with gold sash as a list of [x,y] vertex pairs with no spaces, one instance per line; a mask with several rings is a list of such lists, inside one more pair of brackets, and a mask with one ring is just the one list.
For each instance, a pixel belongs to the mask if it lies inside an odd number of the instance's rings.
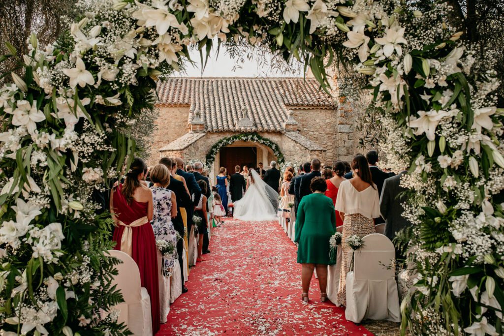
[[124,302],[114,306],[119,310],[118,323],[125,323],[135,336],[152,335],[151,299],[147,289],[141,286],[137,263],[127,253],[109,250],[110,256],[122,261],[115,266],[118,275],[112,280],[117,285]]

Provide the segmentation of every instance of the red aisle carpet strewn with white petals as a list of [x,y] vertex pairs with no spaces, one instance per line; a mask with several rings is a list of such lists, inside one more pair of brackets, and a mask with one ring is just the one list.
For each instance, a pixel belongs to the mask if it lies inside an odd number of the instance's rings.
[[227,220],[214,228],[207,261],[171,305],[157,335],[372,335],[320,302],[318,282],[301,301],[296,247],[278,222]]

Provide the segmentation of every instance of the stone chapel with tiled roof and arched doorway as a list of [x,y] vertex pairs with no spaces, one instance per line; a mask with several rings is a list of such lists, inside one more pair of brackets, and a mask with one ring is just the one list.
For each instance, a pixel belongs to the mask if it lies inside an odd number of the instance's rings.
[[[264,167],[277,160],[300,164],[350,160],[357,146],[355,117],[344,98],[320,89],[313,78],[169,78],[157,85],[159,117],[149,165],[161,157],[185,162],[205,158],[217,143],[240,133],[257,134],[274,146],[235,141],[216,153],[219,167]],[[270,143],[270,144],[271,144]],[[276,148],[278,146],[278,148]]]

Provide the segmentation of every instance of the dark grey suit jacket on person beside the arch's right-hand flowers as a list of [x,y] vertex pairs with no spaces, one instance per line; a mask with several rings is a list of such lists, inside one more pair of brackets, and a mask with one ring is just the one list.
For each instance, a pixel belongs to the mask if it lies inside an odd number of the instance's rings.
[[399,185],[403,174],[404,172],[401,172],[399,175],[386,179],[380,197],[380,212],[385,218],[385,235],[390,240],[394,239],[396,232],[411,226],[411,223],[402,216],[405,195],[401,193],[408,190]]

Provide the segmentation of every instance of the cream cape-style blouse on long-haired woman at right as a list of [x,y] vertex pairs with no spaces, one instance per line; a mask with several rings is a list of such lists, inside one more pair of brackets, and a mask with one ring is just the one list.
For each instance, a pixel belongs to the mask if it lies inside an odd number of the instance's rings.
[[368,186],[362,191],[355,189],[349,180],[343,181],[338,188],[336,205],[334,209],[345,215],[361,214],[373,219],[380,217],[380,197],[374,185]]

